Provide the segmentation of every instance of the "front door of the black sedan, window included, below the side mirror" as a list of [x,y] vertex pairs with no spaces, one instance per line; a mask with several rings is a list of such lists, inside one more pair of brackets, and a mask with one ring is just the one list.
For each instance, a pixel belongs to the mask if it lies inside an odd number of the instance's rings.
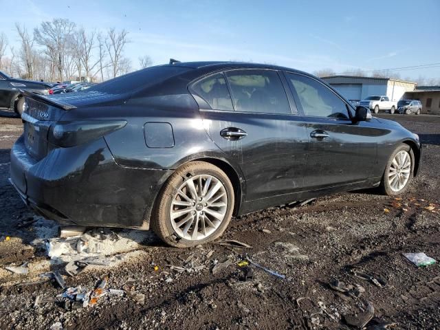
[[369,122],[353,123],[349,105],[320,81],[286,73],[307,122],[306,189],[321,189],[365,181],[376,161],[382,131]]

